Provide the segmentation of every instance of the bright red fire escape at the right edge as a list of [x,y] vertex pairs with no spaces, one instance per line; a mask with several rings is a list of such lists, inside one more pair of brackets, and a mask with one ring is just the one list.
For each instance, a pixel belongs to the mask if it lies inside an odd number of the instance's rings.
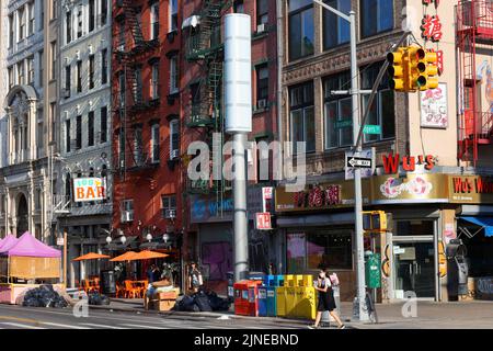
[[[493,5],[486,0],[461,0],[456,5],[459,77],[459,159],[477,166],[479,146],[493,143],[493,78],[486,70],[486,101],[482,109],[482,70],[478,53],[493,49]],[[478,66],[478,64],[480,64]],[[486,63],[488,64],[488,63]]]

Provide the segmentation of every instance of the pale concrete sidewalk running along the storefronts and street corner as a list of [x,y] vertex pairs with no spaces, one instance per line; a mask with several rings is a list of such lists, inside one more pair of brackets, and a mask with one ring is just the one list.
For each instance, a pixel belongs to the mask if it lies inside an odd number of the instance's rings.
[[[378,324],[351,321],[353,313],[352,303],[342,303],[342,319],[355,329],[493,329],[493,302],[460,302],[460,303],[434,303],[417,302],[416,317],[404,317],[402,307],[404,303],[378,304]],[[234,315],[232,308],[229,312],[188,313],[188,312],[157,312],[145,310],[142,299],[112,298],[108,306],[90,306],[93,309],[113,309],[133,313],[157,314],[174,316],[182,319],[196,319],[198,317],[219,318],[228,316],[232,319],[261,319],[264,321],[299,325],[300,328],[311,321],[289,319],[283,317],[248,317]]]

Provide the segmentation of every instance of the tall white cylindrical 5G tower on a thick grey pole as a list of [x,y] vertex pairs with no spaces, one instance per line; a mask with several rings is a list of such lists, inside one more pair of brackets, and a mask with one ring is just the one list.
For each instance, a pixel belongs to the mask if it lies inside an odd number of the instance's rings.
[[250,15],[225,16],[226,133],[233,135],[234,281],[248,279],[246,135],[252,132]]

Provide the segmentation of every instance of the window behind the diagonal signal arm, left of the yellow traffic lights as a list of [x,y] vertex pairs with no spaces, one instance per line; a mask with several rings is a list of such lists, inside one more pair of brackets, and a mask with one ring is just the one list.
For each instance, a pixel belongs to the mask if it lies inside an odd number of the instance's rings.
[[[362,89],[372,89],[381,65],[382,64],[377,64],[366,69],[362,69]],[[368,105],[368,99],[369,95],[363,95],[363,111],[365,111]],[[366,134],[365,143],[393,138],[395,136],[394,94],[393,91],[389,89],[387,73],[383,76],[383,79],[378,87],[378,93],[371,105],[366,124],[379,125],[381,127],[381,134]]]

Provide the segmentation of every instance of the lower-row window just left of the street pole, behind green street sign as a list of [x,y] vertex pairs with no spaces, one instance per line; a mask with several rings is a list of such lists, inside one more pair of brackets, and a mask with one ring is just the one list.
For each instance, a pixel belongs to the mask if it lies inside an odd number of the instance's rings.
[[325,149],[353,145],[353,103],[351,95],[333,95],[333,90],[351,86],[351,73],[329,77],[324,81]]

